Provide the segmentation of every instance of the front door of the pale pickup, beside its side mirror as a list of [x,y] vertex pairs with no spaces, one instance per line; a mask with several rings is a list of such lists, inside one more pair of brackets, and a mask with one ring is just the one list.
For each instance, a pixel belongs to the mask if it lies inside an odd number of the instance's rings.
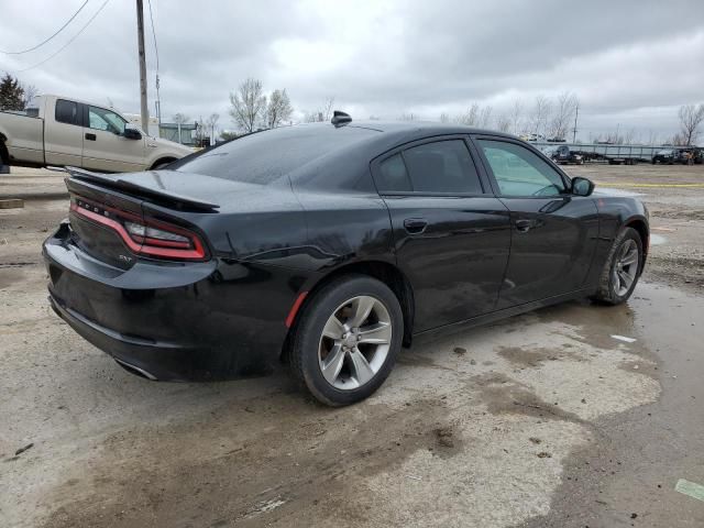
[[95,170],[143,170],[145,143],[124,136],[127,121],[118,113],[100,107],[85,106],[82,163]]

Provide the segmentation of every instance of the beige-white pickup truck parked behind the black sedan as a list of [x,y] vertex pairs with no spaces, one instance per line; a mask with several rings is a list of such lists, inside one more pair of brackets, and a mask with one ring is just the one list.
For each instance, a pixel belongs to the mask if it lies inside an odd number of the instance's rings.
[[75,99],[41,96],[24,113],[0,112],[0,165],[122,173],[157,168],[191,153],[148,136],[114,110]]

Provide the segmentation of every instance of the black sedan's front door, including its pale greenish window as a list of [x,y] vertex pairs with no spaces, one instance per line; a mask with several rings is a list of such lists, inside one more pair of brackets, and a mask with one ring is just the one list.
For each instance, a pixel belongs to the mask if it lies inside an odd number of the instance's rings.
[[571,195],[568,178],[522,142],[474,141],[496,195],[510,211],[510,258],[497,308],[582,288],[598,238],[594,199]]

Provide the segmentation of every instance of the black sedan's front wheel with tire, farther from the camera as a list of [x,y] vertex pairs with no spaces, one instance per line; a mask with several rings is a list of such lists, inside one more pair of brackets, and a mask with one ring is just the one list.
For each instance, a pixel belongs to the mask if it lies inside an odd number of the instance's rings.
[[632,228],[624,228],[612,245],[592,299],[607,305],[628,300],[638,284],[642,267],[642,241]]

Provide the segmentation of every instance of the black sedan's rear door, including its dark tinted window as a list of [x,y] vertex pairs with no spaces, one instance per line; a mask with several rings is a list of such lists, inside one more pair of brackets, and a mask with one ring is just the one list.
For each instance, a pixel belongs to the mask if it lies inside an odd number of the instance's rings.
[[424,140],[372,163],[417,331],[490,312],[508,262],[506,207],[488,191],[464,136]]

